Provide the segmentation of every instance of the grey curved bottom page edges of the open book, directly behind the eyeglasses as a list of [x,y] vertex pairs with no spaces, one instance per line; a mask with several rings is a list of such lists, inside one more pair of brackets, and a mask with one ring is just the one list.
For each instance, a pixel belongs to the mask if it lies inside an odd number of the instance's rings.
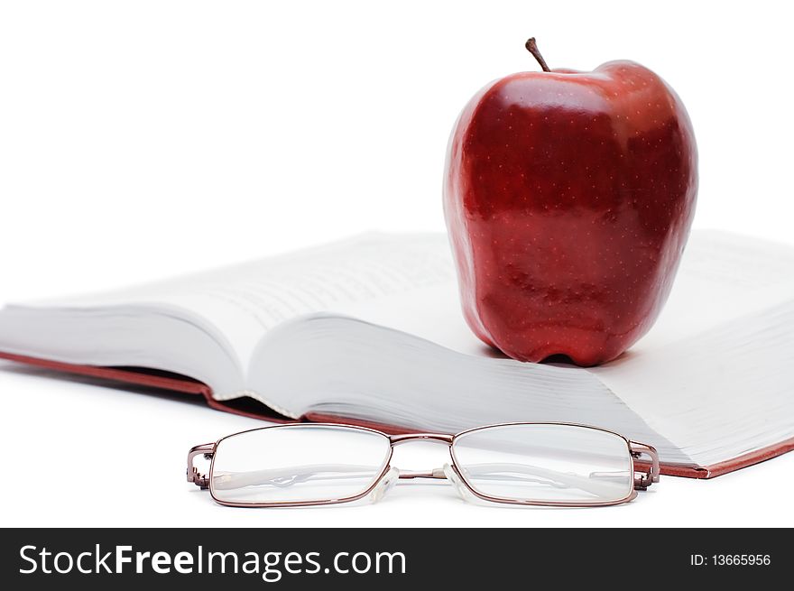
[[275,328],[254,354],[252,396],[285,414],[319,413],[457,433],[512,422],[574,422],[688,458],[583,369],[466,356],[359,319],[313,314]]

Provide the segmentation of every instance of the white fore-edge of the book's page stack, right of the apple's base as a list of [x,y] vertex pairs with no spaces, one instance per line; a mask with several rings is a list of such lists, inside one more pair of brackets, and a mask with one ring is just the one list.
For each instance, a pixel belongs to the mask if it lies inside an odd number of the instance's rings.
[[794,437],[794,300],[595,374],[708,466]]

